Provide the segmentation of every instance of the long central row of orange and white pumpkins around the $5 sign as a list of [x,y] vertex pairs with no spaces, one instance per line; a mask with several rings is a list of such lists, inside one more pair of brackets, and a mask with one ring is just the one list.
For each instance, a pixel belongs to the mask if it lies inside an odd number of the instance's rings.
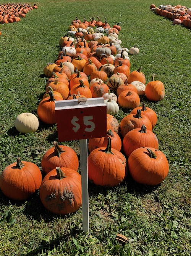
[[[85,18],[83,22],[78,18],[72,21],[69,36],[60,39],[62,51],[57,61],[44,68],[44,74],[49,79],[37,114],[41,121],[55,124],[55,100],[104,97],[107,104],[107,137],[89,139],[89,179],[95,185],[115,187],[125,179],[129,170],[136,182],[157,185],[168,174],[168,160],[158,150],[159,142],[152,132],[157,115],[145,104],[140,106],[139,96],[146,94],[147,99],[160,101],[165,90],[162,82],[154,81],[155,75],[145,86],[141,67],[130,72],[128,53],[136,55],[139,49],[122,47],[118,39],[120,30],[119,24],[111,28],[107,20],[104,23],[94,18],[89,22]],[[132,111],[119,125],[114,115],[120,107]],[[17,117],[15,126],[19,132],[34,132],[36,122],[29,113],[23,113]],[[128,161],[120,152],[122,146]],[[30,179],[26,181],[23,178],[11,182],[11,175],[15,172],[22,173],[21,170],[26,169],[24,174],[20,174],[26,175],[28,168],[25,165],[26,162],[18,159],[2,172],[0,188],[7,197],[23,200],[40,187],[40,199],[48,210],[57,214],[78,210],[81,206],[81,177],[77,172],[78,157],[73,149],[54,142],[54,147],[42,157],[41,166],[46,175],[41,185],[41,173],[33,164],[31,168],[36,169],[36,175],[39,175],[39,178],[32,179],[33,183],[23,185],[23,181],[30,183]],[[38,180],[37,184],[34,184],[35,180]]]

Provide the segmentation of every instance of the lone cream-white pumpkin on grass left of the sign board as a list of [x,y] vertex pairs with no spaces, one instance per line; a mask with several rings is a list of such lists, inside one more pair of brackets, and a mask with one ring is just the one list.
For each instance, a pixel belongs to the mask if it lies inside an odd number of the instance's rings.
[[32,113],[22,113],[16,117],[15,127],[18,132],[22,132],[24,134],[36,132],[39,128],[39,120]]

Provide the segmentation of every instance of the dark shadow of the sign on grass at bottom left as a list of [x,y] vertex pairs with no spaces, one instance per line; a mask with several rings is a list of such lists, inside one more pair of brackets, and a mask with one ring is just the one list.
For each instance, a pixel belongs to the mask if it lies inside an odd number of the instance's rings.
[[[43,253],[48,253],[49,251],[52,251],[52,249],[58,250],[60,246],[60,242],[68,241],[68,237],[74,237],[76,234],[83,233],[83,230],[80,230],[78,226],[74,226],[70,232],[68,232],[66,235],[58,236],[55,239],[52,239],[49,241],[49,238],[42,240],[41,244],[34,249],[33,251],[26,253],[26,254],[21,254],[21,256],[34,256],[34,255],[41,255],[42,251]],[[44,254],[43,254],[44,255]],[[46,254],[47,255],[47,254]],[[65,255],[65,254],[63,254]]]

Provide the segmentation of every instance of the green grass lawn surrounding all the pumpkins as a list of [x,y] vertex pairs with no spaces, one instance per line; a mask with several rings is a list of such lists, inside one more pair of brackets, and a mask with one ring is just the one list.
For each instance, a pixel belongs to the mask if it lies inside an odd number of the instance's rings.
[[[0,3],[4,3],[0,1]],[[34,4],[32,1],[27,3]],[[40,168],[44,152],[58,140],[56,126],[40,122],[34,134],[19,134],[14,122],[21,112],[36,114],[45,91],[43,68],[57,59],[60,37],[76,16],[107,17],[121,21],[123,46],[136,45],[131,71],[142,66],[146,82],[152,74],[165,86],[165,98],[149,102],[158,116],[153,132],[170,164],[167,178],[155,187],[142,186],[131,177],[116,188],[89,184],[90,235],[82,232],[82,209],[67,216],[45,210],[36,194],[26,202],[0,192],[0,256],[118,255],[189,256],[190,221],[190,30],[173,26],[149,10],[152,2],[45,1],[19,23],[0,25],[0,161],[3,169],[16,161]],[[190,7],[190,1],[170,1]],[[156,1],[155,5],[164,4]],[[126,112],[116,115],[120,121]],[[79,154],[78,142],[70,145]],[[118,243],[116,234],[130,240]]]

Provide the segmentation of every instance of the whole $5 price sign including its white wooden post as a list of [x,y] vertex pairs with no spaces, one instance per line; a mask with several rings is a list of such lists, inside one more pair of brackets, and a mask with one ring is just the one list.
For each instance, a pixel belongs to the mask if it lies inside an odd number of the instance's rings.
[[83,231],[89,233],[87,139],[107,136],[104,98],[55,101],[58,141],[79,140],[82,183]]

